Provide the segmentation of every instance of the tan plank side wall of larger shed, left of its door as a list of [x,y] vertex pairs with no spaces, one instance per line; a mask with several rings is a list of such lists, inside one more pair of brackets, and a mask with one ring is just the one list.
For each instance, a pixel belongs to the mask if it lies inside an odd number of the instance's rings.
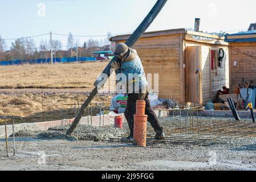
[[152,73],[152,76],[154,73],[159,74],[160,98],[173,97],[178,101],[182,99],[180,76],[182,35],[142,38],[133,46],[140,56],[146,75],[148,73]]

